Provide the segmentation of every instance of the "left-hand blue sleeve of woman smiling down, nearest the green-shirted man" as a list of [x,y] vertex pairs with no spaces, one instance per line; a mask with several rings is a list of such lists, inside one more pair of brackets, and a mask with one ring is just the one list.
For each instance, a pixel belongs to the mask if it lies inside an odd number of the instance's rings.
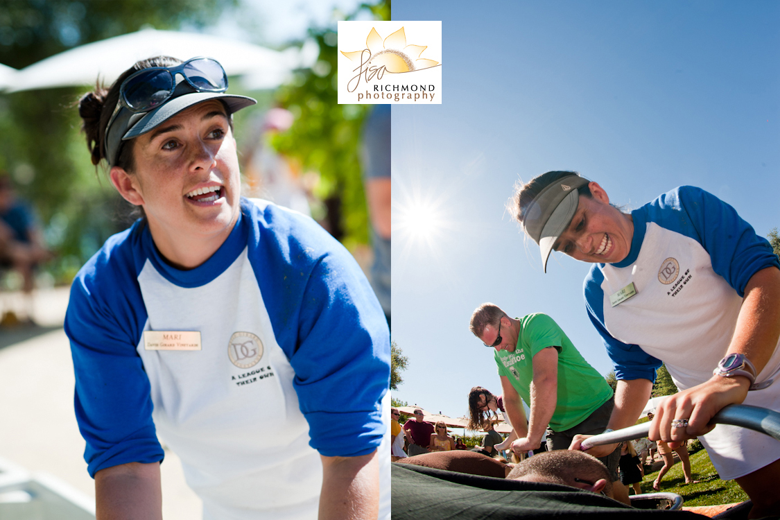
[[644,352],[639,345],[623,343],[612,337],[604,325],[604,291],[601,282],[603,274],[597,265],[590,267],[585,278],[585,308],[590,323],[596,327],[607,348],[609,359],[615,367],[618,380],[648,379],[655,382],[655,371],[661,366],[661,360]]

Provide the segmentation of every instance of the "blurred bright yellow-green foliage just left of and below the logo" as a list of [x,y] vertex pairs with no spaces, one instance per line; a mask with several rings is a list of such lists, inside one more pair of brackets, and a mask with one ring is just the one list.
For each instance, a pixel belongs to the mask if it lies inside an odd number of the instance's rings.
[[[363,5],[374,19],[390,19],[390,2]],[[326,211],[314,217],[350,248],[368,242],[368,214],[360,175],[360,132],[371,109],[366,104],[338,104],[336,34],[310,30],[320,46],[312,69],[299,71],[293,84],[278,91],[277,101],[295,115],[288,132],[276,136],[274,147],[300,162],[304,171],[321,176],[317,196]]]

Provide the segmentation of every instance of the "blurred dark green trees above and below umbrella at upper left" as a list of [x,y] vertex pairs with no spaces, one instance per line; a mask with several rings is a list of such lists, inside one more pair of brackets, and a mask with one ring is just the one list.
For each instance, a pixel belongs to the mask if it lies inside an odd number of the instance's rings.
[[[15,69],[77,45],[140,30],[204,27],[238,0],[6,0],[0,9],[0,63]],[[128,64],[132,65],[132,64]],[[51,246],[71,267],[113,232],[118,196],[95,170],[74,106],[83,88],[0,94],[0,170],[41,216]],[[66,262],[67,264],[67,262]]]

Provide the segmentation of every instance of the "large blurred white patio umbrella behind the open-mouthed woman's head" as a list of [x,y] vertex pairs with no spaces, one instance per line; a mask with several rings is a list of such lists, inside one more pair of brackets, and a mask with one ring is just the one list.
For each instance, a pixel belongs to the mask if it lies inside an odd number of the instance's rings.
[[280,52],[211,34],[144,29],[84,44],[29,65],[10,76],[7,91],[94,85],[98,76],[111,84],[133,63],[158,55],[215,58],[229,76],[250,76],[247,87],[274,88],[287,80],[293,69],[312,65],[317,54],[317,44],[314,49],[308,44]]

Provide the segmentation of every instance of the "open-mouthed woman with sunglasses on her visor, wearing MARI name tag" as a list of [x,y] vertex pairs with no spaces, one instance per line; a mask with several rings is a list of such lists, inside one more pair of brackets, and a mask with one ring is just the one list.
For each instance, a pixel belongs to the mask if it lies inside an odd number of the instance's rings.
[[204,518],[377,518],[381,307],[313,220],[241,196],[232,113],[255,101],[225,90],[211,58],[158,57],[80,101],[93,164],[144,214],[66,316],[97,518],[161,517],[158,434]]

